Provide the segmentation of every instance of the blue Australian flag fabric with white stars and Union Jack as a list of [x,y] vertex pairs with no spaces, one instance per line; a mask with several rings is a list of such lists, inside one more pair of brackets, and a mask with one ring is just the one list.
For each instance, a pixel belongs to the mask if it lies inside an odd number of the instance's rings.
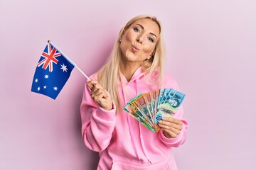
[[37,64],[31,91],[55,99],[75,66],[50,43]]

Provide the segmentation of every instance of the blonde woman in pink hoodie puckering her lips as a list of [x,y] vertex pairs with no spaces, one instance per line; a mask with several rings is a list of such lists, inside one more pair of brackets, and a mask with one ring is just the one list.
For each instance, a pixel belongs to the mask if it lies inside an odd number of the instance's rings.
[[85,85],[82,137],[89,149],[100,153],[97,169],[178,169],[171,148],[186,140],[183,108],[174,118],[159,121],[159,132],[122,109],[138,94],[178,90],[172,77],[162,75],[164,53],[159,21],[154,16],[134,17],[120,30],[105,65]]

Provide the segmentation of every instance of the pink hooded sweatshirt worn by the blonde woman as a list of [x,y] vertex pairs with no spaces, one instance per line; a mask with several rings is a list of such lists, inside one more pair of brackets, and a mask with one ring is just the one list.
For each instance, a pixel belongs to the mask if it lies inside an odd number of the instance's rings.
[[[156,84],[157,72],[147,77],[148,72],[137,69],[128,82],[122,75],[118,84],[118,96],[121,106],[138,94],[156,89],[172,88],[178,90],[176,81],[164,77],[163,84]],[[97,74],[91,76],[97,80]],[[188,123],[183,119],[182,106],[174,118],[183,121],[183,128],[176,138],[167,138],[164,131],[152,132],[131,115],[122,110],[106,111],[90,97],[85,84],[80,113],[82,118],[82,137],[85,145],[100,153],[98,170],[176,170],[178,169],[172,147],[178,147],[186,140]]]

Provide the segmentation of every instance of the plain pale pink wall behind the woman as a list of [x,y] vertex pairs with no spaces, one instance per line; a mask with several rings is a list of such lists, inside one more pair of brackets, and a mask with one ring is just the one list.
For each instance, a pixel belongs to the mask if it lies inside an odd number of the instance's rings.
[[187,94],[179,169],[256,169],[256,3],[246,0],[0,0],[0,169],[95,169],[80,135],[85,77],[74,69],[53,101],[30,91],[36,64],[50,39],[90,75],[144,13],[163,23],[166,72]]

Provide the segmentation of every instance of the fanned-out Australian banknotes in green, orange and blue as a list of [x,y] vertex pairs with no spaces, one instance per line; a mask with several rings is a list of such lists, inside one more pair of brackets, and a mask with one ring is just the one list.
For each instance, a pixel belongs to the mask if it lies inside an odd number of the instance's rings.
[[124,106],[124,111],[149,130],[158,132],[159,120],[174,117],[185,96],[175,89],[158,89],[135,96]]

